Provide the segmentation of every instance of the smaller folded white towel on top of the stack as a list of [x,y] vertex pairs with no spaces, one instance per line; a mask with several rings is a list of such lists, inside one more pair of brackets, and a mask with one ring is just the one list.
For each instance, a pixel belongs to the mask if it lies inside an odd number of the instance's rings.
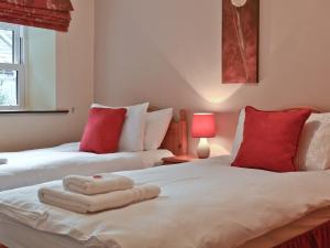
[[85,195],[97,195],[132,188],[134,182],[127,176],[116,174],[95,176],[68,175],[63,179],[63,186],[67,191]]

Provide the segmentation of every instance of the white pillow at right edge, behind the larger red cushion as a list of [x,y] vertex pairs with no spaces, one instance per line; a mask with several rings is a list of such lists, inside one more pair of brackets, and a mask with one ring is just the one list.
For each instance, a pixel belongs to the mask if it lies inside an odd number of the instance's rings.
[[312,114],[306,121],[295,164],[299,170],[330,169],[330,114]]

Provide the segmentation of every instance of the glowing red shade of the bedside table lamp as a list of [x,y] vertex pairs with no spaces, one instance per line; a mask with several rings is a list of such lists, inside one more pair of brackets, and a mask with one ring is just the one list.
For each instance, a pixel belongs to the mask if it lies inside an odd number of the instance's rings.
[[194,114],[191,136],[194,138],[212,138],[216,136],[215,114]]

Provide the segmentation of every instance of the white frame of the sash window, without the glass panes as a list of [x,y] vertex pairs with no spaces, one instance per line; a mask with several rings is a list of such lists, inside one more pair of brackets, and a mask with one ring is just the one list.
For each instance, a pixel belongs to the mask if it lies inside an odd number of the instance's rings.
[[18,72],[18,105],[0,106],[0,110],[16,110],[24,109],[25,107],[25,31],[24,28],[16,24],[0,22],[0,29],[13,31],[13,64],[0,63],[0,69],[3,71],[16,71]]

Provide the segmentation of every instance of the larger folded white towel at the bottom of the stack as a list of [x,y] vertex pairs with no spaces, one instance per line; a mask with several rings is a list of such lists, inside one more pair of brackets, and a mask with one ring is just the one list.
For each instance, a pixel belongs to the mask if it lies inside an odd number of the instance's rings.
[[99,195],[82,195],[65,191],[63,187],[41,187],[38,200],[80,214],[124,207],[133,203],[155,198],[161,188],[155,185],[140,185],[125,191],[116,191]]

